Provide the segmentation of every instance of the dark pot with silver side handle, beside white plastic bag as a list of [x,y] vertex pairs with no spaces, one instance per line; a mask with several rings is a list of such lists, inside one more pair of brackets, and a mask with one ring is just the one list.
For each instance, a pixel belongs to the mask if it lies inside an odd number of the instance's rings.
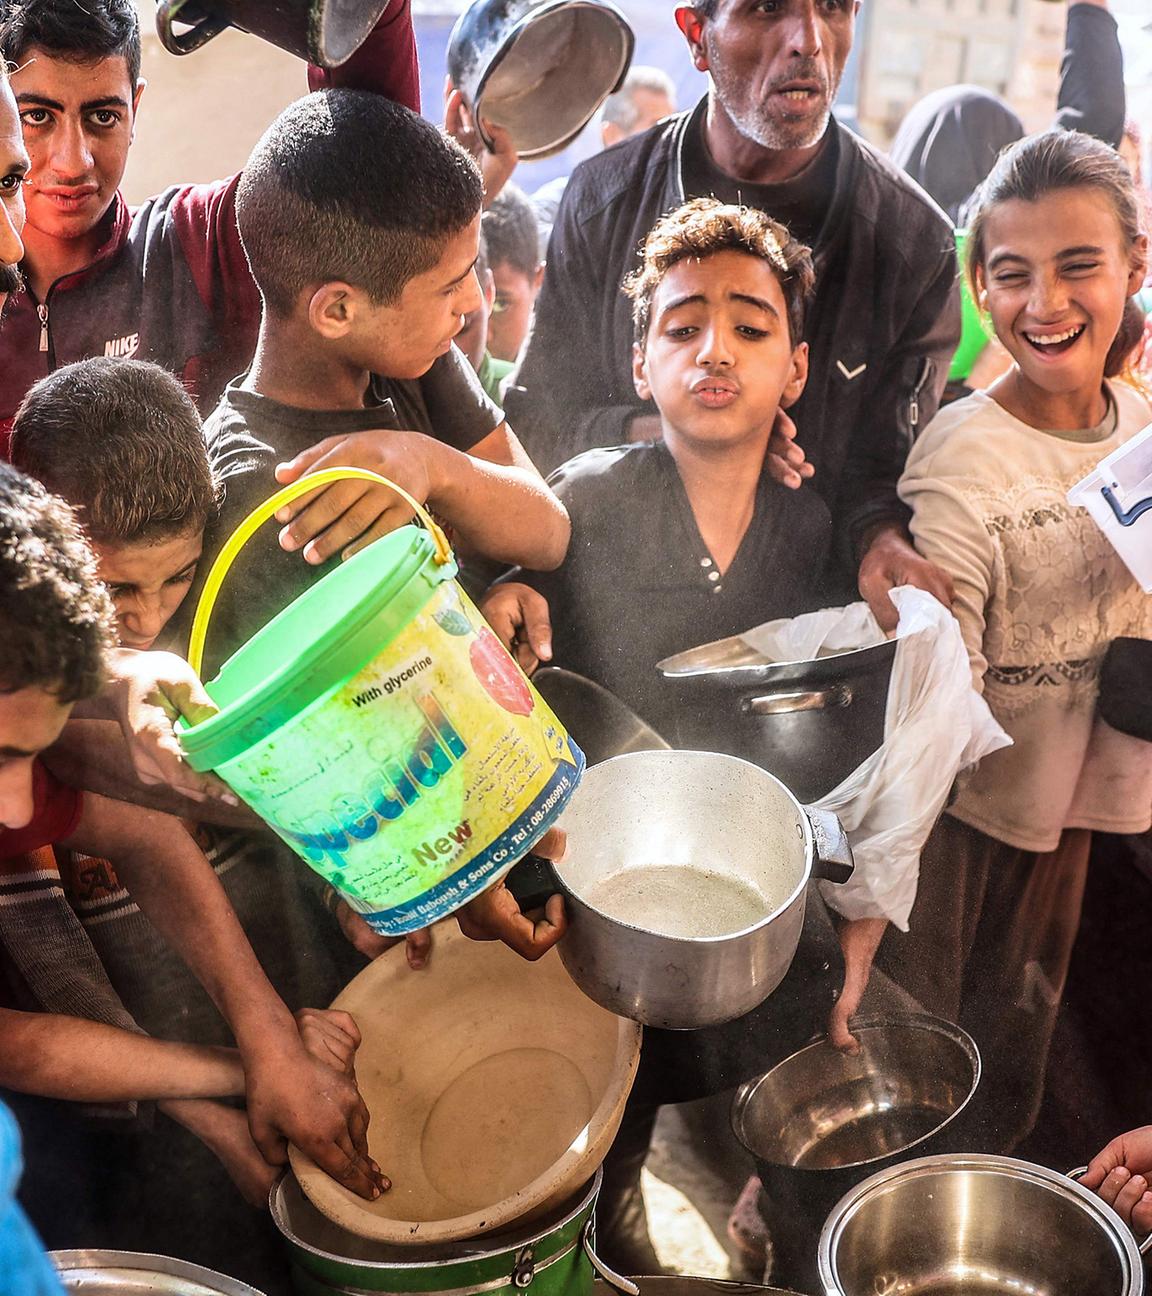
[[818,801],[884,741],[897,643],[770,662],[739,636],[658,664],[678,710],[674,746],[705,746],[775,774]]

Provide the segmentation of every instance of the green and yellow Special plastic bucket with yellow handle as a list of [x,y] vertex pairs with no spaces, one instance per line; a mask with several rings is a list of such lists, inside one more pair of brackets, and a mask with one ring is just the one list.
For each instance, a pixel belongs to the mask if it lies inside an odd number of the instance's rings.
[[373,542],[207,682],[219,714],[179,726],[214,770],[385,936],[428,927],[505,874],[553,823],[584,757],[455,581],[443,531],[363,469],[314,473],[241,522],[192,626],[198,673],[228,568],[289,500],[347,477],[424,522]]

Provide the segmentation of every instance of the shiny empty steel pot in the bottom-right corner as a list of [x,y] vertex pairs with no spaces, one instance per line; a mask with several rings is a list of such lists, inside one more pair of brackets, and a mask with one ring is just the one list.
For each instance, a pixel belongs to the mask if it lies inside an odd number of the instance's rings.
[[1055,1170],[929,1156],[873,1174],[820,1234],[825,1296],[1143,1296],[1116,1212]]

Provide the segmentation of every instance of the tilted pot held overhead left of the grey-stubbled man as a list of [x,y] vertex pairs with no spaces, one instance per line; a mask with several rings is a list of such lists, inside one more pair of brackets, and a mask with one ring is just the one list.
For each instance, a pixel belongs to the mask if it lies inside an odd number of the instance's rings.
[[448,38],[448,76],[477,130],[512,135],[522,158],[559,153],[619,89],[635,36],[609,0],[474,0]]

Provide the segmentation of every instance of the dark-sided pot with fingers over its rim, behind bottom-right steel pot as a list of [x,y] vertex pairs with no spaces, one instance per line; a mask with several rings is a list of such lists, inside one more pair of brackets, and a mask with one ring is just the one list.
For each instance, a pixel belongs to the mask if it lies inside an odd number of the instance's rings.
[[732,1100],[732,1131],[787,1220],[775,1271],[797,1286],[815,1282],[820,1221],[845,1192],[910,1155],[963,1150],[959,1118],[980,1083],[980,1052],[950,1021],[884,1013],[851,1030],[858,1054],[812,1041]]

